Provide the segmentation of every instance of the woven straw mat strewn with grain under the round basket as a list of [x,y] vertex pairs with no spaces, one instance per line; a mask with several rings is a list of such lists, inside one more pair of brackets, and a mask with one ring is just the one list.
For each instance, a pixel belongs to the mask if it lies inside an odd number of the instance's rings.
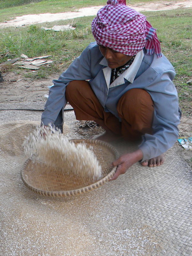
[[[40,124],[42,111],[0,113],[1,134],[7,123]],[[73,111],[65,113],[65,123],[68,137],[80,139],[73,133]],[[113,146],[120,154],[136,147]],[[20,178],[26,157],[10,152],[0,151],[0,255],[192,255],[192,173],[176,147],[166,152],[160,167],[136,163],[90,193],[58,198],[26,188]]]

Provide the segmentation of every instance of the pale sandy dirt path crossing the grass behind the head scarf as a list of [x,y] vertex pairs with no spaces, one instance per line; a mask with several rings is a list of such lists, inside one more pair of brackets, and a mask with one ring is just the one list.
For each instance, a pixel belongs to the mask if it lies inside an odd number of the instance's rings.
[[[127,4],[128,5],[128,4]],[[93,6],[81,8],[78,12],[61,12],[61,13],[41,13],[41,14],[29,14],[16,17],[13,20],[0,23],[1,28],[7,27],[20,27],[30,25],[33,23],[51,22],[55,20],[67,20],[83,16],[96,15],[98,10],[102,6]],[[188,8],[192,7],[192,0],[185,1],[171,1],[171,2],[156,2],[156,3],[139,3],[136,5],[130,5],[133,9],[144,12],[144,11],[164,11],[172,10],[177,8]]]

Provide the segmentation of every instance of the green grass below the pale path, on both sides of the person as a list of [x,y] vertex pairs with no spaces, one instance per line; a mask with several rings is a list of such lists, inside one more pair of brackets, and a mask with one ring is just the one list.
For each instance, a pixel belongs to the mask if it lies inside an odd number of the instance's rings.
[[[180,106],[184,113],[191,114],[192,86],[186,82],[192,77],[192,9],[144,12],[144,14],[153,27],[157,28],[162,52],[176,70],[174,83],[178,90]],[[49,68],[41,67],[36,72],[29,71],[26,76],[38,79],[46,78],[52,72],[57,72],[59,75],[90,42],[94,41],[90,29],[93,18],[82,17],[20,28],[1,29],[0,62],[19,57],[21,53],[28,57],[52,55],[54,64]],[[75,31],[55,32],[41,29],[41,26],[52,27],[70,23],[76,27]]]

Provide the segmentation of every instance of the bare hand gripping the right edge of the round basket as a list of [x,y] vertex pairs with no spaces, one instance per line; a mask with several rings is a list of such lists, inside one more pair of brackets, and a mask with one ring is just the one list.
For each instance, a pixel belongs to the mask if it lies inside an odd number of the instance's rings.
[[140,161],[142,158],[143,152],[140,149],[120,156],[112,163],[112,166],[117,166],[117,169],[111,180],[116,180],[120,174],[124,174],[129,167]]

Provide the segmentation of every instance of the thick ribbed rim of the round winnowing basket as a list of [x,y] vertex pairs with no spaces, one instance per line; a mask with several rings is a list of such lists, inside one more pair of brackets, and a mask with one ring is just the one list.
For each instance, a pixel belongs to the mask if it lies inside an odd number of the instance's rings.
[[[70,141],[73,141],[75,143],[78,142],[85,142],[85,143],[92,143],[92,144],[96,144],[96,145],[100,145],[100,146],[104,146],[108,149],[110,149],[116,158],[119,157],[119,153],[116,150],[115,147],[113,147],[111,144],[109,144],[108,142],[102,141],[102,140],[94,140],[94,139],[71,139]],[[27,180],[25,179],[25,167],[27,166],[28,162],[31,161],[31,157],[28,157],[28,159],[24,162],[24,164],[21,167],[21,179],[23,181],[23,183],[25,184],[26,187],[28,187],[30,190],[32,190],[33,192],[35,192],[36,194],[40,194],[40,195],[44,195],[44,196],[53,196],[53,197],[68,197],[68,196],[76,196],[76,195],[80,195],[80,194],[84,194],[86,192],[92,191],[96,188],[101,187],[102,185],[104,185],[106,182],[108,182],[110,180],[110,178],[113,177],[114,173],[116,172],[116,166],[111,170],[111,172],[109,172],[107,174],[107,176],[103,177],[101,180],[98,180],[97,182],[82,187],[82,188],[77,188],[77,189],[72,189],[72,190],[60,190],[60,191],[48,191],[48,190],[43,190],[43,189],[39,189],[36,188],[32,185],[29,185]]]

